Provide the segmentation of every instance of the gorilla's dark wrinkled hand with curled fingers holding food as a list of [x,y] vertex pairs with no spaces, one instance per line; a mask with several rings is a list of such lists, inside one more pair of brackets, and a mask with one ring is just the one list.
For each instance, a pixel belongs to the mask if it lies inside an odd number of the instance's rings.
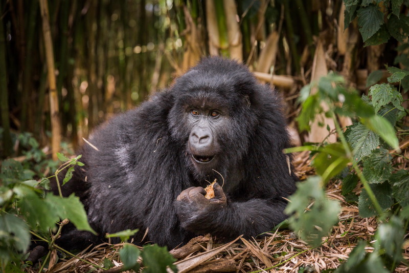
[[[227,198],[218,183],[213,185],[215,197],[206,199],[202,187],[190,187],[176,198],[176,211],[181,225],[191,232],[205,234],[211,230],[203,229],[215,221],[215,216],[228,206]],[[201,223],[207,223],[203,225]]]

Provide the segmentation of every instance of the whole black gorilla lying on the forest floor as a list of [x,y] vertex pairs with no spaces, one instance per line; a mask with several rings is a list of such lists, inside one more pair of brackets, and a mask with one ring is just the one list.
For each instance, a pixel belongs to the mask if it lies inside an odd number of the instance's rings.
[[[89,142],[98,151],[83,146],[85,166],[62,190],[80,197],[99,237],[65,230],[58,243],[66,248],[135,228],[134,243],[148,228],[144,242],[169,248],[197,234],[257,236],[286,218],[283,197],[295,191],[280,99],[232,60],[203,59]],[[222,188],[205,199],[202,187],[215,178]]]

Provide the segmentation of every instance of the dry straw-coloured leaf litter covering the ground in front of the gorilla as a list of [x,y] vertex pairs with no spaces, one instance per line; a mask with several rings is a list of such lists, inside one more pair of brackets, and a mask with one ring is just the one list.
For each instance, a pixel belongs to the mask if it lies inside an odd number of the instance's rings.
[[[307,153],[294,158],[297,175],[302,180],[314,173],[309,163]],[[210,236],[200,236],[171,251],[178,257],[179,272],[331,272],[348,259],[360,240],[373,240],[377,221],[375,218],[360,218],[358,207],[345,201],[336,181],[329,183],[327,196],[340,202],[342,212],[330,235],[323,238],[325,242],[321,247],[311,248],[288,229],[268,233],[262,239],[240,239],[226,245],[213,242]],[[118,253],[121,247],[122,244],[102,244],[83,251],[78,257],[100,266],[104,265],[105,259],[111,260],[114,266],[105,272],[120,272],[122,263]],[[409,261],[409,241],[403,248],[403,258]],[[371,252],[373,247],[368,246],[366,250]],[[192,269],[189,271],[189,268]],[[37,272],[34,268],[26,270]],[[91,271],[103,272],[77,258],[67,257],[60,259],[47,272]],[[409,272],[409,268],[401,263],[395,272]]]

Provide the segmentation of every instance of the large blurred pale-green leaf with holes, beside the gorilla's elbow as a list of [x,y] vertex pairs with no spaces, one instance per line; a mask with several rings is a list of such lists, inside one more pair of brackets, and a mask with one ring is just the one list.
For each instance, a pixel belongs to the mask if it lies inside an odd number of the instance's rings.
[[[309,177],[297,184],[297,191],[289,197],[285,213],[291,215],[288,219],[290,227],[300,237],[312,246],[322,243],[322,237],[328,236],[332,225],[338,222],[339,204],[329,200],[323,190],[321,178]],[[305,208],[311,204],[310,211]]]

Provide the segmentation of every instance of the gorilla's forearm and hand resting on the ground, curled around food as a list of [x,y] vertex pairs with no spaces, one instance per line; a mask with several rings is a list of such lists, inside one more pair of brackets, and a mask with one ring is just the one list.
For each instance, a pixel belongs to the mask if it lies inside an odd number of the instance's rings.
[[287,218],[284,199],[235,202],[226,198],[218,183],[214,191],[215,198],[209,200],[202,187],[190,187],[177,197],[176,211],[183,228],[231,240],[239,235],[248,238],[268,232]]

